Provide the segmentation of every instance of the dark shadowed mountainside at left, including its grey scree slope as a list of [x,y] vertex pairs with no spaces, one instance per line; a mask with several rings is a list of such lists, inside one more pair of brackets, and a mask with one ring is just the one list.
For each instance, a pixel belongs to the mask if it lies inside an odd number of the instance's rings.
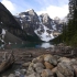
[[[8,35],[7,40],[4,40],[6,35]],[[10,11],[0,2],[0,41],[9,43],[9,38],[11,38],[11,36],[13,41],[10,40],[10,42],[12,43],[14,43],[18,38],[21,41],[42,42],[36,34],[34,34],[34,36],[28,35],[26,32],[22,30],[21,24],[19,24]]]

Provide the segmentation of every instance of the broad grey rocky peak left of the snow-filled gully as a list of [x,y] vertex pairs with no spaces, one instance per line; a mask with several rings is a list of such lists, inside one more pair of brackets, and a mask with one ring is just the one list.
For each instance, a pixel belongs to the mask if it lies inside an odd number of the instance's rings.
[[38,28],[40,22],[34,10],[21,12],[18,16],[15,16],[15,19],[21,24],[22,29],[29,34],[34,34],[34,30]]

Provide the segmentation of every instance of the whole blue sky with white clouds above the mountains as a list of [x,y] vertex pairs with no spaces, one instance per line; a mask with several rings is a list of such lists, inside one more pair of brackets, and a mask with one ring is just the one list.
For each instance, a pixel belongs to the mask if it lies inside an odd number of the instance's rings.
[[52,19],[61,19],[68,14],[68,0],[0,0],[13,14],[33,9],[38,15],[47,13]]

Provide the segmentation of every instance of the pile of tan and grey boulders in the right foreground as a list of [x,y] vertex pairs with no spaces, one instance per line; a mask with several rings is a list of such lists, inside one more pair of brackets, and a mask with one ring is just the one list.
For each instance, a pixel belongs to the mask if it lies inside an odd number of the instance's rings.
[[28,69],[23,77],[77,77],[77,58],[45,54],[25,63],[24,67]]

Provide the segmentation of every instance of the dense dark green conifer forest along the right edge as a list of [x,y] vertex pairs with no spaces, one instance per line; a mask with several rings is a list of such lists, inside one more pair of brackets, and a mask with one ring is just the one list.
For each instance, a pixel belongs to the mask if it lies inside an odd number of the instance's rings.
[[63,33],[54,42],[77,46],[77,0],[69,0],[68,23],[63,25]]

